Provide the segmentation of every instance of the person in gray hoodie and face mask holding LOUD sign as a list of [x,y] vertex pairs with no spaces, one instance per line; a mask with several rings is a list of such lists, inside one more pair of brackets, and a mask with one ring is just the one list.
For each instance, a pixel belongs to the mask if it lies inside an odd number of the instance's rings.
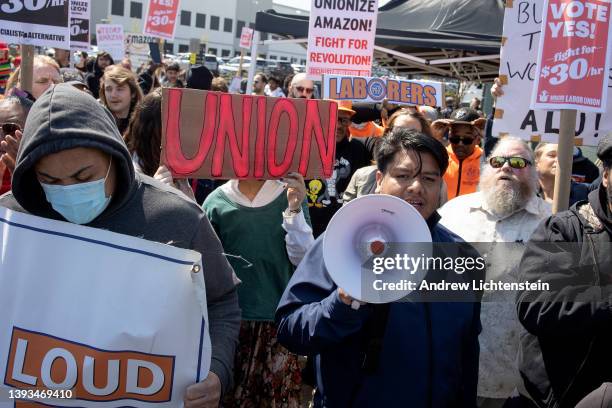
[[111,113],[68,84],[47,91],[32,106],[12,182],[12,192],[0,197],[0,205],[11,210],[202,254],[211,374],[187,388],[185,407],[218,406],[231,383],[240,309],[231,266],[197,204],[135,174]]

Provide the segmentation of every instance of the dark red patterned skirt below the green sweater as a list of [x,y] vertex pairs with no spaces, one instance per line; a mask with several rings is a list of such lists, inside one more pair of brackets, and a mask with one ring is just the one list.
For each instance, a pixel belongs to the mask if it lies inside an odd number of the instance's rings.
[[234,364],[235,388],[225,408],[299,408],[302,366],[276,340],[273,322],[243,320]]

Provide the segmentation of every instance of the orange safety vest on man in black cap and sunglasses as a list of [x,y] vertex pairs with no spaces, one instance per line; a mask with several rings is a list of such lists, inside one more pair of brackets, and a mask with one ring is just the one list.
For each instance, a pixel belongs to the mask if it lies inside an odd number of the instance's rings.
[[451,200],[463,194],[475,193],[480,181],[480,156],[482,149],[474,148],[471,155],[459,161],[451,145],[448,145],[448,169],[444,173],[444,181],[448,188],[448,199]]

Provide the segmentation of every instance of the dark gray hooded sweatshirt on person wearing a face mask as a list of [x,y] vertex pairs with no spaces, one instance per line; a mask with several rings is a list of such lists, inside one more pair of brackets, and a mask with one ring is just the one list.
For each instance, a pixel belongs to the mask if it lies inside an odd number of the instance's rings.
[[77,147],[111,155],[116,173],[110,204],[88,226],[202,254],[212,342],[210,371],[217,374],[225,391],[231,382],[240,309],[233,272],[219,239],[195,203],[184,199],[178,190],[135,174],[113,116],[93,97],[71,85],[59,84],[36,101],[17,153],[13,190],[0,197],[0,205],[63,220],[47,202],[34,165],[44,156]]

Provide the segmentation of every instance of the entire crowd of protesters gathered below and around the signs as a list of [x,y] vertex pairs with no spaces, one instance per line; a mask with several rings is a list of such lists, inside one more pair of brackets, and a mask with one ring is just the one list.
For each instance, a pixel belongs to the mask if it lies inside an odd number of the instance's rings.
[[[129,59],[115,63],[106,52],[75,74],[66,58],[62,50],[36,56],[31,89],[19,68],[6,84],[0,205],[202,254],[212,361],[208,377],[186,390],[185,407],[611,400],[611,137],[601,140],[598,163],[577,149],[572,207],[554,215],[557,146],[495,140],[479,101],[444,110],[338,101],[327,179],[174,178],[160,163],[160,88],[228,92],[225,80],[203,66],[182,77],[175,63],[135,73]],[[503,93],[499,82],[493,93]],[[305,74],[283,84],[257,73],[252,94],[317,92]],[[434,242],[485,243],[487,279],[552,289],[485,291],[463,302],[356,301],[331,279],[323,240],[334,214],[367,194],[407,201]],[[565,242],[581,250],[560,255],[544,245]]]

